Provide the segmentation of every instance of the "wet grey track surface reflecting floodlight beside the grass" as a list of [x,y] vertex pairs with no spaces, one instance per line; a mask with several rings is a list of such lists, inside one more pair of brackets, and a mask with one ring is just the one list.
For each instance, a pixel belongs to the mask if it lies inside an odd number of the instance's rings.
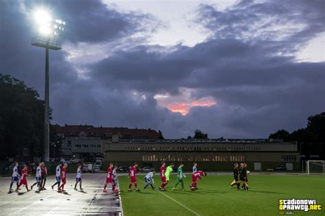
[[[67,174],[66,193],[58,193],[57,187],[51,189],[55,176],[47,177],[47,190],[40,193],[35,189],[26,192],[25,187],[19,193],[8,193],[10,180],[0,178],[0,215],[122,215],[119,195],[110,188],[103,192],[106,174],[83,174],[83,191],[73,189],[75,174]],[[30,189],[35,178],[27,177],[27,181]]]

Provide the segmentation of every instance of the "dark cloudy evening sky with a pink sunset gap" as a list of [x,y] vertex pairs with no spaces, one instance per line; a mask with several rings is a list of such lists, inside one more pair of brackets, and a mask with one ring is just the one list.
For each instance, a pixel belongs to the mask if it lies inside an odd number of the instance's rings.
[[0,72],[43,98],[34,12],[67,22],[50,51],[53,123],[267,137],[325,111],[325,1],[0,0]]

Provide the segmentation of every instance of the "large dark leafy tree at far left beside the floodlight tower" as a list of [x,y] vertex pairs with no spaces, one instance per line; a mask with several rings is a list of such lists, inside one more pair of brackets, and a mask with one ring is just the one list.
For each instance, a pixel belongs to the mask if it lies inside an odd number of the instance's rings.
[[23,81],[0,74],[0,159],[43,152],[44,101]]

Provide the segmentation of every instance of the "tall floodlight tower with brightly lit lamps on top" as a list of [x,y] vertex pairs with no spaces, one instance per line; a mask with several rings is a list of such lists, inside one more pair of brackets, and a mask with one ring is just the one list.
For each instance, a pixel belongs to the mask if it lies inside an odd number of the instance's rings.
[[65,22],[53,20],[45,10],[35,14],[38,24],[38,36],[32,38],[32,45],[45,48],[45,111],[44,111],[44,144],[43,161],[49,161],[49,50],[61,49],[62,32]]

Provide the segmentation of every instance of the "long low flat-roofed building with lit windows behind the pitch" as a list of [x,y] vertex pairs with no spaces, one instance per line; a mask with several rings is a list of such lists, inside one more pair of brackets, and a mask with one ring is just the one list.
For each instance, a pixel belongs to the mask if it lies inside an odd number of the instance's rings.
[[106,163],[141,167],[160,167],[160,161],[184,162],[191,170],[197,161],[201,170],[232,170],[234,163],[247,163],[250,170],[300,169],[300,154],[296,142],[278,139],[159,139],[119,140],[104,144]]

